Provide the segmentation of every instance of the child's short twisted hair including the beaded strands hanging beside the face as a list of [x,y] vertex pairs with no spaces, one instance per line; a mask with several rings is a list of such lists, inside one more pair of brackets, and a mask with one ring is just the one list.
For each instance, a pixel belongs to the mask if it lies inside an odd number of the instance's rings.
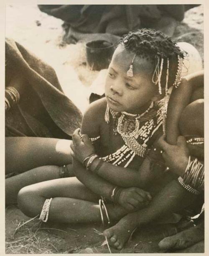
[[124,35],[120,44],[127,51],[155,63],[152,81],[158,84],[160,94],[162,89],[167,94],[171,85],[178,87],[186,52],[182,51],[171,37],[154,29],[139,29]]

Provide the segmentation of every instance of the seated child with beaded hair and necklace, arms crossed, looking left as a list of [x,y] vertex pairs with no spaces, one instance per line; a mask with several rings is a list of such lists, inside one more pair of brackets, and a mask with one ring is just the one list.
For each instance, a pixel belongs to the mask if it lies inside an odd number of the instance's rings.
[[[104,220],[103,212],[110,222],[129,213],[125,217],[132,218],[132,225],[125,225],[127,231],[140,223],[138,209],[145,219],[148,204],[152,204],[151,212],[156,209],[161,214],[163,208],[159,209],[156,200],[172,177],[164,172],[163,164],[151,165],[149,152],[161,155],[152,145],[163,134],[165,96],[170,86],[181,82],[183,59],[184,53],[159,31],[142,29],[126,35],[110,63],[106,97],[92,103],[82,121],[81,134],[87,134],[94,146],[87,135],[79,135],[77,130],[73,135],[76,178],[22,188],[18,194],[20,209],[31,217],[40,215],[44,222],[68,223]],[[171,191],[170,186],[167,190]],[[150,193],[157,192],[156,200],[151,200]],[[180,204],[185,191],[178,186],[175,192]],[[168,198],[165,192],[163,195]],[[160,204],[172,211],[175,198],[169,199]],[[126,239],[118,242],[110,230],[104,234],[117,248],[125,243]]]

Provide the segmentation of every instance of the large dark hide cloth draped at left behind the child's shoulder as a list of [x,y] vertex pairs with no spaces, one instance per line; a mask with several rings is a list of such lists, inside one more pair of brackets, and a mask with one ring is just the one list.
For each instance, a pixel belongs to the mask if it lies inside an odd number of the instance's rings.
[[5,42],[5,86],[23,76],[20,100],[5,112],[5,136],[70,139],[82,113],[64,95],[51,66],[12,39]]

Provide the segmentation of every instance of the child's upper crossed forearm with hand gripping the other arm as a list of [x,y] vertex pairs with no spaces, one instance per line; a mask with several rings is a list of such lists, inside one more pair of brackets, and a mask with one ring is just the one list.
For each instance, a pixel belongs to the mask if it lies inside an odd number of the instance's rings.
[[[76,130],[73,136],[74,145],[72,146],[72,149],[75,152],[75,157],[81,163],[86,157],[95,152],[89,137],[83,135],[82,139],[83,142],[81,141],[81,138],[79,138],[78,130]],[[146,188],[151,180],[159,177],[159,175],[163,175],[163,171],[151,170],[151,162],[148,157],[144,159],[138,170],[115,166],[96,158],[90,165],[89,172],[94,172],[99,165],[99,162],[101,162],[102,165],[100,165],[96,174],[112,184],[125,188]]]

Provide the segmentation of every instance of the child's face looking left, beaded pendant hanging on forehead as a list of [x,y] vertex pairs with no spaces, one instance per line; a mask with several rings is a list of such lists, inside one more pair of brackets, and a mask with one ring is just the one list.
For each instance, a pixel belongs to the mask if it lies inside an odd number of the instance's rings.
[[127,76],[134,54],[120,45],[114,52],[105,82],[107,103],[116,112],[141,113],[158,99],[153,84],[154,65],[143,57],[133,61],[133,77]]

